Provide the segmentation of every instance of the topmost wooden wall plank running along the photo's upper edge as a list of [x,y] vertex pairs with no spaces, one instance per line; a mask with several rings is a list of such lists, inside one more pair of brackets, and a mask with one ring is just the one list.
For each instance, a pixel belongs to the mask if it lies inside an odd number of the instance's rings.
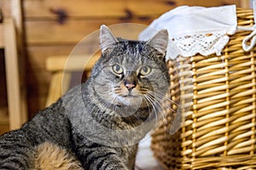
[[[79,5],[78,5],[79,4]],[[160,15],[181,5],[216,7],[225,4],[240,5],[238,0],[25,0],[25,16],[32,18],[52,18],[60,10],[69,17],[146,17]],[[54,10],[54,11],[53,11]]]

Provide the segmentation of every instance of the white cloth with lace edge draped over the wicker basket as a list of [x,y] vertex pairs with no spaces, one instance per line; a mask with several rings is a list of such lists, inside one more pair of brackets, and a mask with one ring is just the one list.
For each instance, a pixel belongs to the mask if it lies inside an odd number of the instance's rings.
[[154,20],[139,35],[139,39],[148,40],[161,29],[167,29],[170,37],[167,59],[175,59],[177,55],[221,55],[230,40],[229,35],[236,33],[236,5],[215,8],[182,6],[172,9]]

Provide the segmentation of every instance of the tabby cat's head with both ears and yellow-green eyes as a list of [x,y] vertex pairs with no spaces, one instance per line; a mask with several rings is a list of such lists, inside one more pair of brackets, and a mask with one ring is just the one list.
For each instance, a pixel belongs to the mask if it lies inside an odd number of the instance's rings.
[[103,105],[132,112],[125,108],[137,110],[163,98],[169,87],[165,61],[166,30],[141,42],[116,38],[107,26],[102,26],[100,40],[102,57],[96,63],[91,79]]

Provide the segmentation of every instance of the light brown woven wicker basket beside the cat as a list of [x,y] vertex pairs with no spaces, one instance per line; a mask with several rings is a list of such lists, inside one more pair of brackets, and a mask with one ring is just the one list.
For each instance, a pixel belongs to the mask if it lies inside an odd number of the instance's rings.
[[[238,8],[236,14],[238,26],[253,26],[252,9]],[[177,133],[169,130],[177,111],[171,105],[164,111],[167,123],[152,134],[154,156],[166,169],[256,168],[256,48],[248,53],[241,48],[250,33],[231,36],[222,56],[168,61],[171,99],[193,104],[182,112],[186,119]],[[188,71],[193,78],[191,100],[183,97],[189,88],[181,81]]]

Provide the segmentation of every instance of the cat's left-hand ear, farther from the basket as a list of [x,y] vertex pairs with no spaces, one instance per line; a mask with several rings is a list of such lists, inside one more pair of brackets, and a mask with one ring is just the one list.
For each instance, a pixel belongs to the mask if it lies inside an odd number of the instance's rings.
[[108,29],[108,26],[102,25],[101,26],[101,35],[100,35],[100,40],[101,40],[101,48],[102,48],[102,53],[116,42],[119,42],[114,36],[113,33]]

